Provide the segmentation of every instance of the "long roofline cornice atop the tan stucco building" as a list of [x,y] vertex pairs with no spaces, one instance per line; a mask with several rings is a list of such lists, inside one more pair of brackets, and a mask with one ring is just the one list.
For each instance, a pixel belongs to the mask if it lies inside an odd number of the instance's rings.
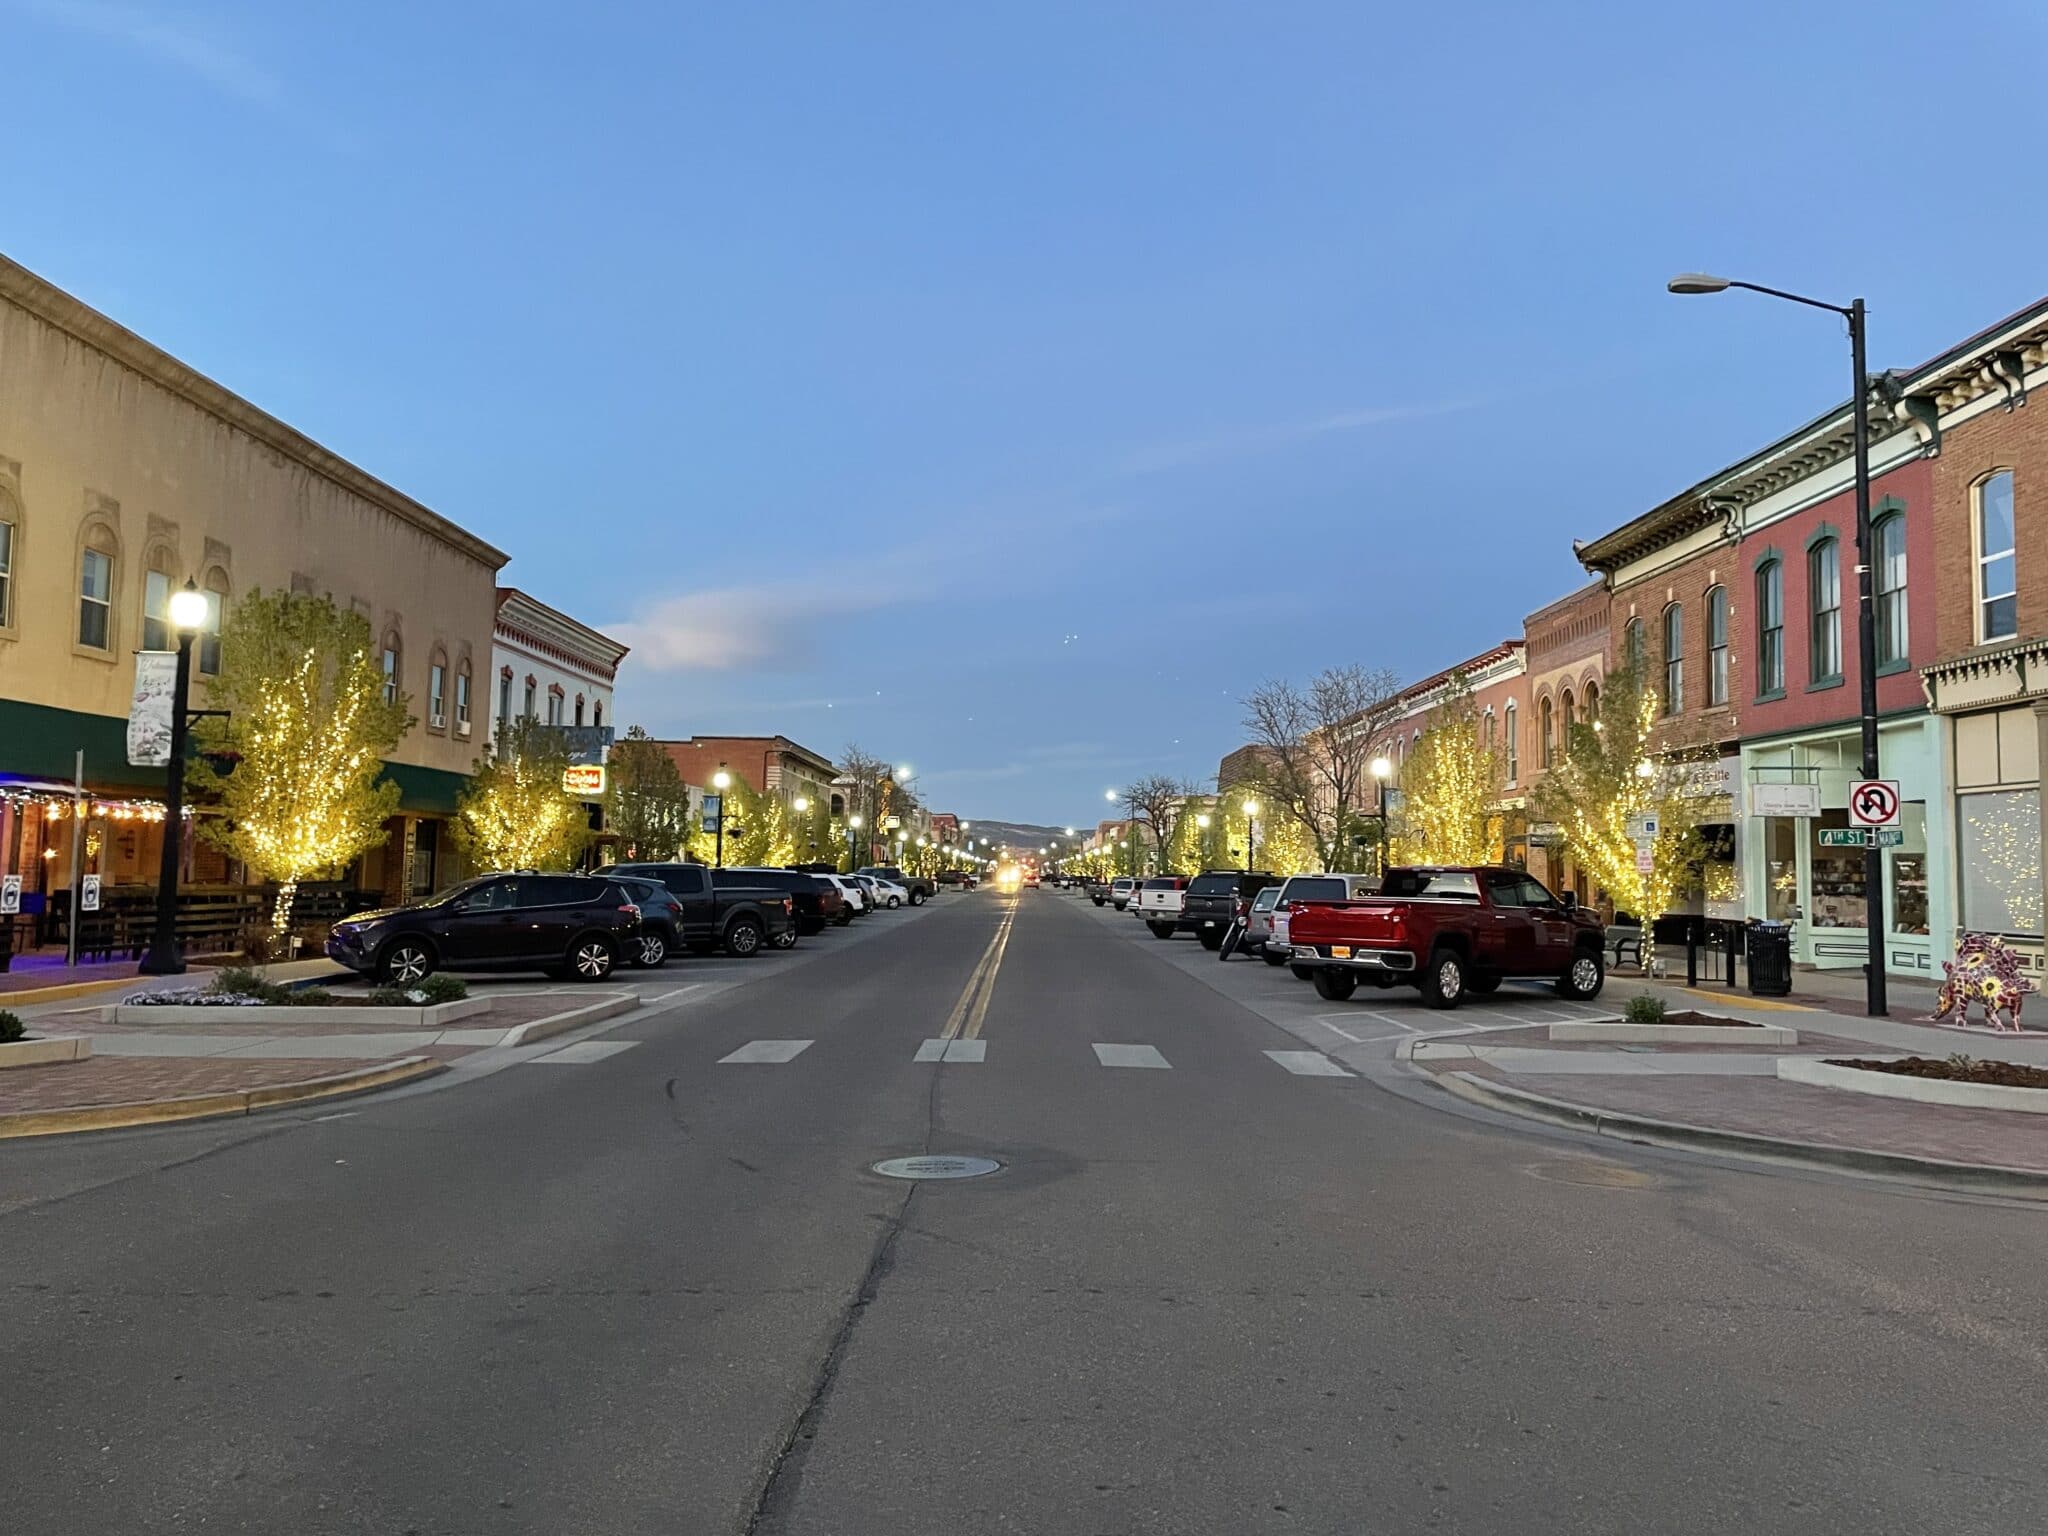
[[303,432],[258,410],[242,395],[225,389],[197,369],[178,362],[170,352],[145,342],[125,326],[115,324],[98,309],[80,303],[53,283],[45,283],[27,266],[0,256],[0,299],[16,309],[35,315],[47,326],[61,330],[76,342],[113,358],[158,389],[176,395],[188,406],[197,406],[223,426],[262,442],[272,453],[291,459],[322,479],[332,481],[350,496],[358,496],[371,506],[389,512],[420,532],[469,555],[489,569],[500,569],[510,555],[496,545],[477,539],[467,528],[422,506],[403,492],[385,485],[375,475],[358,469],[336,453],[313,442]]

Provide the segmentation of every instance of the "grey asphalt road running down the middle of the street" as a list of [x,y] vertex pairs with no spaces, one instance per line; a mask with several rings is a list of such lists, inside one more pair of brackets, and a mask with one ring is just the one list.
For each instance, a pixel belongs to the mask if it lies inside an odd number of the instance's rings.
[[[1303,1075],[1307,989],[1053,891],[717,973],[0,1145],[0,1530],[2042,1530],[2036,1208]],[[924,1153],[1001,1171],[868,1171]]]

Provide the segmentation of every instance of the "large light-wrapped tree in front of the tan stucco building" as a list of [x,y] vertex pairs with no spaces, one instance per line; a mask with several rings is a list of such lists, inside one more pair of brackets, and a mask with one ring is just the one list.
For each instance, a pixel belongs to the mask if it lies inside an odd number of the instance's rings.
[[408,698],[385,696],[367,618],[332,598],[258,590],[227,610],[207,702],[227,717],[195,733],[186,778],[221,809],[199,836],[279,883],[270,928],[283,934],[301,881],[383,844],[399,788],[381,774],[412,727]]

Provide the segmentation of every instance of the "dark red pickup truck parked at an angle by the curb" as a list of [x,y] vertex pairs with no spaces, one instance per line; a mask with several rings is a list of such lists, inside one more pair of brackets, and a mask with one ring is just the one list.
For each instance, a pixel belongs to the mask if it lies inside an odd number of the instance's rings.
[[1294,975],[1337,1001],[1360,979],[1421,987],[1432,1008],[1507,977],[1546,977],[1561,997],[1585,1001],[1608,979],[1599,918],[1518,868],[1391,868],[1378,895],[1292,903],[1288,942]]

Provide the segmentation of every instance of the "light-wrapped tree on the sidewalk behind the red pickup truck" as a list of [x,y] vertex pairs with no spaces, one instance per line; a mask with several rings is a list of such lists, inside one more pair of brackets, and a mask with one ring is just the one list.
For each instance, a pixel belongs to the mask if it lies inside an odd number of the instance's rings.
[[[1640,657],[1608,676],[1599,717],[1575,725],[1565,756],[1536,786],[1536,813],[1554,821],[1565,852],[1642,924],[1642,969],[1657,948],[1657,920],[1675,905],[1704,858],[1700,823],[1714,803],[1710,743],[1675,739]],[[1638,868],[1638,817],[1657,817],[1649,868]]]

